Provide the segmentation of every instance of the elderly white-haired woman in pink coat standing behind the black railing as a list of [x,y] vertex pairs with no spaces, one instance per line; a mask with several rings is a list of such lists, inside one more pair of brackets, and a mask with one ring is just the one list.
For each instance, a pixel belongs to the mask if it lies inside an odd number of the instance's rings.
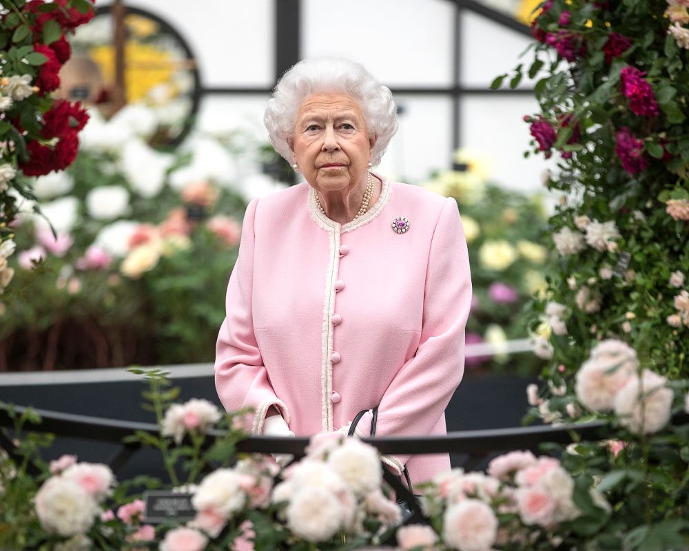
[[[301,61],[264,122],[306,182],[252,200],[227,289],[215,380],[256,434],[443,435],[471,302],[457,204],[372,171],[397,129],[390,90],[358,63]],[[432,136],[429,136],[432,139]],[[449,456],[385,459],[413,482]]]

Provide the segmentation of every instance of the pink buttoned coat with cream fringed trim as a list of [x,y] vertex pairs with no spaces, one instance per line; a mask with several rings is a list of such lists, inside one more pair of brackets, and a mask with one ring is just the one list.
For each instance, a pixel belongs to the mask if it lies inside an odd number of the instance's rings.
[[[227,410],[276,406],[296,435],[337,430],[379,406],[376,434],[442,435],[464,371],[471,303],[452,198],[383,179],[376,205],[340,225],[307,183],[252,200],[227,288],[215,380]],[[409,220],[396,233],[392,222]],[[368,434],[371,413],[358,425]],[[413,482],[449,456],[395,456]]]

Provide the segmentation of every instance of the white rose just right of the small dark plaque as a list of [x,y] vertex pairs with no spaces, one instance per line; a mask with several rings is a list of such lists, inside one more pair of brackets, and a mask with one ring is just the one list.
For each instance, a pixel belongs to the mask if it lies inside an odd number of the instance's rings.
[[240,475],[232,469],[214,470],[196,488],[192,505],[197,511],[214,509],[227,518],[240,511],[247,502],[247,495],[241,488],[241,481],[247,475]]

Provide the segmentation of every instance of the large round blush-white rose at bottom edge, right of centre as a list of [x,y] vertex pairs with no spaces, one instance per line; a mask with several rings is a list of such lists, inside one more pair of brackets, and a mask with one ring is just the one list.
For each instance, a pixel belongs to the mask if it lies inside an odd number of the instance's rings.
[[464,499],[447,508],[442,538],[458,551],[489,551],[497,537],[493,510],[478,499]]

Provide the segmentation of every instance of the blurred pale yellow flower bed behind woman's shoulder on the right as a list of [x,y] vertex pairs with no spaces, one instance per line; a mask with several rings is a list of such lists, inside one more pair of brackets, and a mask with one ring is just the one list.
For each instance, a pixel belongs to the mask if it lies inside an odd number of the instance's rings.
[[466,366],[536,375],[542,360],[520,357],[508,364],[508,355],[500,349],[507,340],[528,338],[522,311],[531,296],[546,287],[542,269],[549,253],[542,244],[546,227],[542,197],[490,183],[485,155],[460,149],[455,157],[462,170],[439,171],[424,186],[455,198],[462,214],[473,284],[466,343],[487,342],[498,350],[493,357],[469,357]]

